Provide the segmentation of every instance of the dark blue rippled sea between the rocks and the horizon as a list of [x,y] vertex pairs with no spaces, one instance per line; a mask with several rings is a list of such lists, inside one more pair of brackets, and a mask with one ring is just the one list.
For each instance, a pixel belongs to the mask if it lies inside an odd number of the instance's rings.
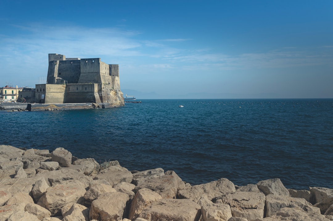
[[[183,181],[280,178],[333,188],[333,99],[142,100],[97,110],[0,111],[0,144],[54,150]],[[179,108],[178,105],[184,105]]]

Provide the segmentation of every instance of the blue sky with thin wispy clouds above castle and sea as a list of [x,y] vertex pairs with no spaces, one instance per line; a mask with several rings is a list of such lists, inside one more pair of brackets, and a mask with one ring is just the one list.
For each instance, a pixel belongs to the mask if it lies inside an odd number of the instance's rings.
[[48,53],[120,65],[138,98],[333,98],[333,1],[16,1],[0,7],[0,86]]

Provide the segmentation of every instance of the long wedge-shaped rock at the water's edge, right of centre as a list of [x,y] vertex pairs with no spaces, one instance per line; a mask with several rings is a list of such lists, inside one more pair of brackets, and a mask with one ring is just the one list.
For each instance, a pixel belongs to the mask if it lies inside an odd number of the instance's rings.
[[180,199],[191,199],[194,202],[198,202],[202,196],[207,197],[209,200],[219,197],[224,194],[235,192],[234,184],[228,179],[221,178],[217,181],[212,181],[206,184],[194,185],[189,189],[183,189],[178,191],[178,197]]

